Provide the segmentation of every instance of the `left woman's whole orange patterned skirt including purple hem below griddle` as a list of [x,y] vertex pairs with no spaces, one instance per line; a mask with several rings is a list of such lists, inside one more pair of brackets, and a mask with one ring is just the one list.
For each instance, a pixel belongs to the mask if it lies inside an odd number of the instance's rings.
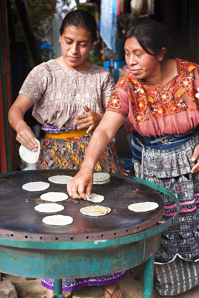
[[[86,149],[92,134],[68,139],[50,139],[45,137],[40,141],[41,150],[36,169],[68,169],[79,170],[84,160]],[[95,171],[109,172],[109,168],[124,169],[123,162],[119,159],[116,150],[116,139],[107,146],[104,154],[95,165]],[[121,171],[121,174],[124,172]],[[89,285],[108,285],[123,279],[126,271],[87,278],[64,278],[62,291],[74,291]],[[42,279],[41,284],[54,290],[54,280]]]

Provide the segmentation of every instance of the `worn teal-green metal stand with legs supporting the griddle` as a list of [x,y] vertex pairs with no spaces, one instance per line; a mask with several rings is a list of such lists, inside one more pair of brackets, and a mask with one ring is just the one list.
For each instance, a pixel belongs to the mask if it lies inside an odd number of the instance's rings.
[[[128,174],[130,179],[146,184],[172,198],[178,206],[177,213],[168,221],[158,221],[142,232],[112,239],[39,242],[0,237],[0,272],[49,278],[53,272],[55,294],[52,298],[64,298],[63,276],[81,278],[93,276],[93,273],[98,276],[144,263],[142,298],[152,298],[154,255],[160,246],[161,232],[175,223],[180,206],[178,199],[169,190],[158,184],[130,177],[130,172]],[[121,174],[113,175],[126,177]],[[67,274],[64,275],[61,271],[66,266]]]

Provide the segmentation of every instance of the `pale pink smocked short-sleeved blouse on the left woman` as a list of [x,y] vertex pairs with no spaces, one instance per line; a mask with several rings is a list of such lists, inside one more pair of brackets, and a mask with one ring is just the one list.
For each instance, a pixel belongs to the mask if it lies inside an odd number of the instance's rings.
[[101,66],[92,63],[88,72],[64,70],[52,59],[30,72],[19,94],[33,101],[32,115],[38,122],[64,130],[74,126],[75,116],[85,113],[84,103],[104,113],[114,85]]

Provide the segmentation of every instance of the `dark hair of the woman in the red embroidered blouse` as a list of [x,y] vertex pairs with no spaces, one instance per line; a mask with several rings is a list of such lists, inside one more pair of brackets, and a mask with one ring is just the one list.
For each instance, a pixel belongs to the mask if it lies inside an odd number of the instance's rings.
[[134,24],[125,33],[123,37],[124,44],[127,38],[131,37],[135,37],[144,51],[149,55],[159,55],[161,49],[165,48],[166,53],[164,54],[163,61],[171,56],[169,51],[171,44],[169,35],[163,24],[158,21],[144,20]]

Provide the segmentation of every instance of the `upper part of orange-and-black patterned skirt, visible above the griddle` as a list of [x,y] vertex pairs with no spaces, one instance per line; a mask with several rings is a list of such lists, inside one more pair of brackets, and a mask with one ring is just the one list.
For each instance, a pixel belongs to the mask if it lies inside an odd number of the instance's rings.
[[[46,136],[40,141],[41,150],[36,169],[79,170],[91,136],[89,134],[68,139],[50,139]],[[116,150],[116,139],[113,138],[96,163],[95,171],[109,172],[110,167],[124,169],[123,164]]]

